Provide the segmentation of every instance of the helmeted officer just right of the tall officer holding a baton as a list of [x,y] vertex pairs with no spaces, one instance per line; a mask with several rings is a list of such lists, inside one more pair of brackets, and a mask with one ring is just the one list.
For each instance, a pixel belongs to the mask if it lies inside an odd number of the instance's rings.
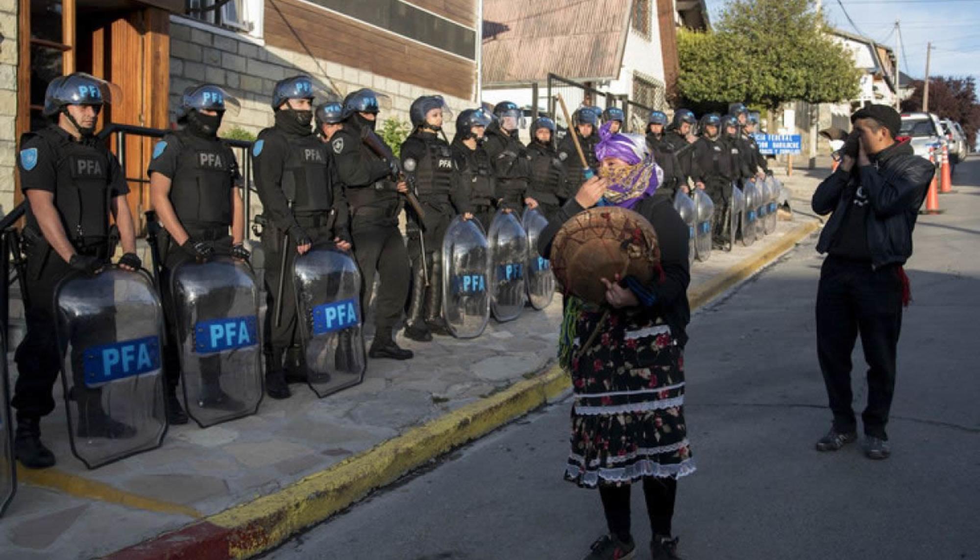
[[453,137],[453,159],[460,171],[462,196],[466,199],[466,211],[471,212],[483,226],[490,230],[501,199],[497,197],[496,178],[490,155],[483,149],[487,125],[493,121],[483,109],[467,109],[456,117],[456,136]]

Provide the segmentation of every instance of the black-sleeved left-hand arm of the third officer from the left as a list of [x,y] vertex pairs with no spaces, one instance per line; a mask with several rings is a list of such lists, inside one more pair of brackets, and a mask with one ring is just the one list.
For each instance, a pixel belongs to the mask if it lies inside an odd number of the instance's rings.
[[253,149],[255,186],[262,201],[266,217],[281,231],[288,232],[293,241],[306,236],[303,228],[296,222],[289,200],[282,191],[282,174],[288,156],[289,145],[275,135],[264,135],[262,149],[255,155]]

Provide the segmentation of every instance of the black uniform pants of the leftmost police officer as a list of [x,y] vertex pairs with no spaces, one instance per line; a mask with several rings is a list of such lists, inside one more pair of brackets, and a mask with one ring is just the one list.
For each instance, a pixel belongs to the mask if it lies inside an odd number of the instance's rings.
[[[107,252],[104,244],[96,249],[78,251],[100,257],[105,257]],[[30,305],[24,313],[27,332],[14,353],[18,377],[11,399],[19,416],[38,418],[50,414],[55,408],[51,392],[61,371],[62,349],[56,333],[54,295],[61,281],[73,271],[68,262],[46,244],[27,251],[26,287]],[[83,332],[79,334],[84,335]],[[80,352],[73,352],[72,360],[72,369],[77,377],[74,385],[83,387]]]

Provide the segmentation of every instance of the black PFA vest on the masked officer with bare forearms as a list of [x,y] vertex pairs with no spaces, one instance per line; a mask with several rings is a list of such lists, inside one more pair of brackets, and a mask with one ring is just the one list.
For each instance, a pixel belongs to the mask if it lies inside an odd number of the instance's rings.
[[235,156],[221,140],[185,131],[164,138],[180,149],[170,200],[185,225],[230,225]]

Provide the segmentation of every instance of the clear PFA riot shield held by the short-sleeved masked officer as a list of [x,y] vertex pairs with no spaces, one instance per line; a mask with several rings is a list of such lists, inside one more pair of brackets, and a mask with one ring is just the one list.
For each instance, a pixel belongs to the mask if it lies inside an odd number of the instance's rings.
[[187,414],[202,428],[254,414],[263,397],[259,286],[248,264],[188,261],[171,275]]

